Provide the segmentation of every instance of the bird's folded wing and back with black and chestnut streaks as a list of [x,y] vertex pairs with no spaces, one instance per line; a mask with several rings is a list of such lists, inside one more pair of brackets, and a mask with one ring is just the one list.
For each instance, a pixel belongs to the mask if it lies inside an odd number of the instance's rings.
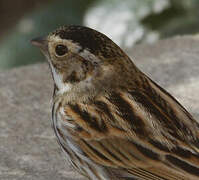
[[143,90],[118,90],[65,111],[78,126],[77,143],[96,163],[143,180],[199,178],[198,123],[151,80]]

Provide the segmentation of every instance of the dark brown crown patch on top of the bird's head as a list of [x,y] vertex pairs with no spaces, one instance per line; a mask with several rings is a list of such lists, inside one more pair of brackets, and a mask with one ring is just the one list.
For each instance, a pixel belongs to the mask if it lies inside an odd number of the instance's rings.
[[78,43],[83,51],[89,50],[94,55],[102,55],[105,58],[122,56],[122,50],[104,34],[83,26],[63,26],[52,34],[62,39],[72,40]]

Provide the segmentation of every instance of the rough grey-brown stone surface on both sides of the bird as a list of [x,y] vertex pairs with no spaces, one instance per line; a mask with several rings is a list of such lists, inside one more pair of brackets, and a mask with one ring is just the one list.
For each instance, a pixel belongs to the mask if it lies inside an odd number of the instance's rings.
[[[139,45],[128,54],[199,119],[199,36]],[[51,129],[51,95],[47,64],[0,73],[0,179],[81,179]]]

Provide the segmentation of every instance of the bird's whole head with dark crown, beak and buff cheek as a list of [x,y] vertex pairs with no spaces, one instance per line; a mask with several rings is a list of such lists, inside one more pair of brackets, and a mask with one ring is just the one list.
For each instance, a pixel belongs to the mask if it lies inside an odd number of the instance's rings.
[[128,56],[108,37],[82,26],[64,26],[47,37],[35,38],[47,57],[60,93],[106,89],[122,84],[122,74],[133,66]]

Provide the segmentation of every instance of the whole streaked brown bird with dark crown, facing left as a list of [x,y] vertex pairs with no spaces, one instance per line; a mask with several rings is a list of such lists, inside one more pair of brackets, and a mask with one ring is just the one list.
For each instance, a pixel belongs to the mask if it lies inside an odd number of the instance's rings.
[[65,25],[31,42],[54,80],[63,159],[85,179],[199,179],[199,123],[110,38]]

